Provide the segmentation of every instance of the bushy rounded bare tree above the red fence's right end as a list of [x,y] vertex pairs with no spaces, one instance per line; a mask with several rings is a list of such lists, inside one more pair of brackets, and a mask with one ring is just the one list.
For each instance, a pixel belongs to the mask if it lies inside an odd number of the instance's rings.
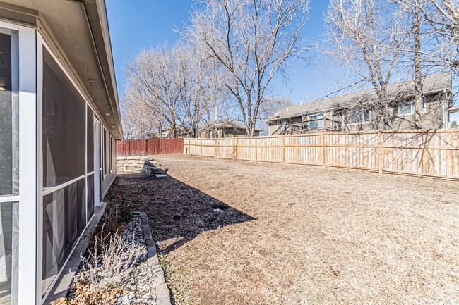
[[196,137],[207,104],[221,108],[221,85],[211,64],[181,42],[141,51],[126,67],[127,97],[139,110],[148,109],[151,120],[160,122],[169,137]]

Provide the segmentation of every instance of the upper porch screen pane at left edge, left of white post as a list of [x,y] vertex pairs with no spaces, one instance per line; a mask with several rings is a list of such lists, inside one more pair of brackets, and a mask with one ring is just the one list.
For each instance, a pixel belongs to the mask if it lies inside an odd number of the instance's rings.
[[0,196],[19,192],[17,33],[0,29]]

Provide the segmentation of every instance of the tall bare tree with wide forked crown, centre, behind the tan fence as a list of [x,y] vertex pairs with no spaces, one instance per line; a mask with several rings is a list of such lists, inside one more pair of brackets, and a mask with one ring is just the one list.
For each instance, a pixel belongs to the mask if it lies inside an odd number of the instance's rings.
[[309,0],[206,0],[191,12],[184,37],[227,71],[225,87],[248,135],[273,77],[305,51],[308,6]]

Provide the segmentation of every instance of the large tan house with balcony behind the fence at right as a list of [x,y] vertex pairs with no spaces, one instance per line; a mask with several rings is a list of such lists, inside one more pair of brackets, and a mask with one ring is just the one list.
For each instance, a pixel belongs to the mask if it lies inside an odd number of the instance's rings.
[[[388,85],[387,119],[393,130],[448,128],[453,108],[451,73],[428,75],[423,80],[423,101],[419,121],[415,118],[414,82]],[[374,89],[352,92],[339,97],[320,99],[283,108],[266,120],[270,135],[317,131],[359,131],[387,129],[380,112]],[[419,112],[419,111],[418,111]]]

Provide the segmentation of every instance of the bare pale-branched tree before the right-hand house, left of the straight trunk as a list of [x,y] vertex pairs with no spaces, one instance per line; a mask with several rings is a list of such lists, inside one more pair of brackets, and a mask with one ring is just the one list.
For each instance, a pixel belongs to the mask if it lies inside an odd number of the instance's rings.
[[328,32],[323,52],[338,66],[350,68],[354,83],[371,84],[378,97],[371,104],[378,127],[391,129],[388,84],[406,60],[402,49],[410,37],[410,23],[398,13],[397,4],[384,0],[330,0],[324,19]]

